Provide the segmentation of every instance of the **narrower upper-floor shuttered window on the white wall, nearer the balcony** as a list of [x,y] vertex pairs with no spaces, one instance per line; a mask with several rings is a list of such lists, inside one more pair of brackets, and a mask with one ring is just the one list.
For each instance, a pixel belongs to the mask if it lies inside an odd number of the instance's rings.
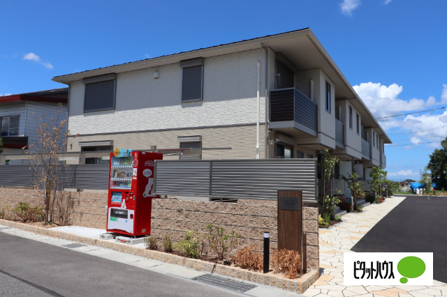
[[203,100],[203,58],[180,62],[183,68],[182,102]]

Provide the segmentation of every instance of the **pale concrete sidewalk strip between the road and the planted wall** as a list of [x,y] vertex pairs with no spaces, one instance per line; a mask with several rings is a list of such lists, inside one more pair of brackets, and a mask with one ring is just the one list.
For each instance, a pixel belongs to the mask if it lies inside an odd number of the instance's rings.
[[[61,227],[57,227],[57,228],[61,228]],[[70,229],[71,229],[71,231],[78,232],[75,234],[82,235],[82,236],[90,235],[90,236],[94,236],[95,238],[99,238],[99,237],[96,237],[96,232],[102,231],[101,229],[91,230],[90,228],[84,228],[84,227],[71,227],[71,228],[64,227],[63,230],[62,229],[59,229],[59,230],[65,231],[65,232],[70,232],[70,231],[68,231]],[[40,241],[41,243],[47,243],[49,245],[56,245],[61,248],[67,248],[67,249],[70,249],[73,251],[90,254],[92,256],[100,257],[103,259],[108,259],[110,261],[117,261],[122,264],[127,264],[130,266],[147,269],[149,271],[154,271],[156,273],[163,273],[165,275],[170,275],[172,277],[180,277],[184,280],[190,280],[191,282],[196,282],[196,280],[192,280],[193,277],[198,277],[199,275],[209,274],[206,271],[196,271],[194,269],[186,268],[184,266],[178,266],[175,264],[166,264],[162,261],[147,259],[145,257],[135,256],[133,254],[124,254],[122,252],[117,252],[115,250],[108,250],[106,248],[101,248],[96,245],[85,245],[85,244],[80,244],[80,243],[73,242],[73,241],[67,241],[64,239],[52,238],[49,236],[34,234],[29,231],[23,231],[21,229],[15,229],[15,228],[3,226],[3,225],[0,225],[0,232],[4,232],[6,234],[10,234],[10,235],[14,235],[14,236],[20,236],[22,238],[28,238],[28,239],[31,239],[34,241]],[[87,235],[87,234],[89,234],[89,235]],[[99,236],[99,234],[97,236]],[[76,245],[82,245],[82,246],[80,246],[78,248],[68,248],[68,247],[64,246],[64,245],[70,245],[70,244],[76,244]],[[222,277],[222,279],[223,280],[230,279],[230,280],[233,280],[234,282],[239,282],[239,283],[241,282],[240,280],[233,279],[231,277]],[[293,294],[291,292],[284,291],[281,289],[265,287],[265,286],[263,286],[261,284],[257,284],[257,283],[251,283],[251,282],[247,282],[247,281],[245,281],[244,283],[254,284],[254,285],[256,285],[256,287],[254,289],[250,289],[249,291],[246,291],[242,295],[256,296],[256,297],[300,296],[298,294]],[[200,282],[200,284],[203,284],[203,283]],[[207,284],[207,285],[210,285],[210,284]],[[213,286],[211,286],[211,287],[213,287]],[[219,287],[219,289],[222,289],[222,288]],[[232,291],[230,289],[228,289],[228,292],[236,293],[235,291]]]

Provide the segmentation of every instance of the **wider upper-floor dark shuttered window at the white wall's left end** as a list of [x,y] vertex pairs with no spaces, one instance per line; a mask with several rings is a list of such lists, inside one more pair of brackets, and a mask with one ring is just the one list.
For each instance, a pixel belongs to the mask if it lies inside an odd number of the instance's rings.
[[82,79],[85,84],[84,112],[115,109],[116,74]]

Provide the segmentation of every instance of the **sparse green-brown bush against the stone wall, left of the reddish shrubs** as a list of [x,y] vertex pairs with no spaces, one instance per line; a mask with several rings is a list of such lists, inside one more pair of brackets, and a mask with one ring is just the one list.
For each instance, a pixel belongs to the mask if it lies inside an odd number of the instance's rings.
[[226,234],[222,227],[215,227],[213,224],[207,224],[207,234],[204,235],[208,248],[217,254],[217,259],[223,261],[226,255],[231,252],[240,234],[234,230]]

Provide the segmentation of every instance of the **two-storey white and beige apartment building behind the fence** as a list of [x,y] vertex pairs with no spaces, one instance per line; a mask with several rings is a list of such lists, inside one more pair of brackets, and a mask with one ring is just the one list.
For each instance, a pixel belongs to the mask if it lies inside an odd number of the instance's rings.
[[68,130],[80,134],[68,151],[231,147],[197,158],[241,159],[259,143],[259,158],[327,148],[343,160],[337,178],[386,166],[390,138],[310,29],[53,80],[70,87]]

